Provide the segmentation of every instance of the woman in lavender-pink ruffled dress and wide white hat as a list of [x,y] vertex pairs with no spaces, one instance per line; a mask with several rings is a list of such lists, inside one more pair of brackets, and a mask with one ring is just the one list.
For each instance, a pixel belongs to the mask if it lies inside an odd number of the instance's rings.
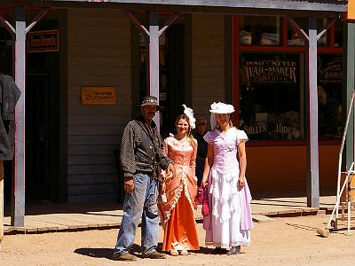
[[209,192],[209,215],[203,219],[206,245],[216,246],[220,253],[230,248],[227,254],[239,254],[241,246],[250,244],[249,230],[253,227],[245,178],[248,137],[233,127],[233,106],[213,103],[209,112],[212,131],[204,137],[208,154],[202,177]]

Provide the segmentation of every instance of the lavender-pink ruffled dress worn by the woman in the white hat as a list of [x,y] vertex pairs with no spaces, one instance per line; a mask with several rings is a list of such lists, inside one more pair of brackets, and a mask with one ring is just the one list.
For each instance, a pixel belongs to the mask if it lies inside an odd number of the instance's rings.
[[213,145],[214,161],[209,172],[209,215],[203,218],[206,245],[227,248],[248,246],[253,228],[250,201],[246,182],[238,190],[238,145],[248,141],[247,134],[239,129],[209,131],[204,139]]

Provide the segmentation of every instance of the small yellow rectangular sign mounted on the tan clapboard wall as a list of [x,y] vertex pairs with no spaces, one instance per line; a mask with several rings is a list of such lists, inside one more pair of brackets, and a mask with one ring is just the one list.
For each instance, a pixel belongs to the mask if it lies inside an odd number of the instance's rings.
[[117,105],[114,87],[82,87],[82,105]]

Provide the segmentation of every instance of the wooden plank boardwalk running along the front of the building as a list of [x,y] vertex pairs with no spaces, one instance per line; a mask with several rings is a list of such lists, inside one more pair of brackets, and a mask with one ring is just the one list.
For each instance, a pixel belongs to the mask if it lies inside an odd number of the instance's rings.
[[[306,207],[305,197],[259,198],[252,200],[255,216],[317,215],[319,211],[332,210],[335,196],[320,197],[320,208]],[[9,210],[5,208],[4,234],[43,233],[52,231],[83,231],[119,228],[122,205],[116,203],[54,204],[45,203],[26,207],[25,226],[12,227]],[[196,221],[201,222],[201,207],[196,211]]]

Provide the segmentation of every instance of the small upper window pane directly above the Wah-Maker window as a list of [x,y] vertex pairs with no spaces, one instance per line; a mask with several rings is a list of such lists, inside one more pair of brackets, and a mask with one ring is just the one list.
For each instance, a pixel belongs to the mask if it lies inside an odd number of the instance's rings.
[[241,45],[280,45],[280,18],[240,17]]

